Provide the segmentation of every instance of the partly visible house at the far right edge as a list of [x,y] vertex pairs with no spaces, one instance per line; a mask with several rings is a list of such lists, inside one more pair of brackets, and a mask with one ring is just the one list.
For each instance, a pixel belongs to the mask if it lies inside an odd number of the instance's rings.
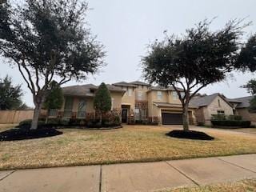
[[256,114],[249,112],[250,100],[254,96],[247,96],[243,98],[227,98],[227,100],[235,106],[235,114],[241,115],[246,121],[256,124]]

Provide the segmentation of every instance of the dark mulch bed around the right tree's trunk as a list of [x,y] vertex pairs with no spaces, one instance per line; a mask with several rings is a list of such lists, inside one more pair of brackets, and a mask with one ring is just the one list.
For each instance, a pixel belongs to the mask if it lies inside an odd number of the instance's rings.
[[172,138],[189,138],[189,139],[195,139],[195,140],[214,140],[213,137],[210,135],[203,133],[201,131],[195,131],[195,130],[172,130],[169,133],[166,134],[169,137]]

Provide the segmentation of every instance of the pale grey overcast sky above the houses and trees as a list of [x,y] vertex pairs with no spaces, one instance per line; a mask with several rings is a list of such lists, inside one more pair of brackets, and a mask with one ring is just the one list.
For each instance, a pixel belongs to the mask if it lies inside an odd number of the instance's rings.
[[[89,6],[87,21],[92,33],[97,34],[105,46],[107,66],[86,81],[68,82],[65,86],[142,81],[139,64],[141,56],[146,54],[146,45],[155,38],[162,39],[164,30],[170,34],[182,34],[186,28],[205,18],[218,17],[212,24],[212,30],[216,30],[231,18],[247,17],[247,22],[252,21],[253,25],[246,28],[245,38],[256,32],[255,0],[90,0]],[[13,78],[15,84],[22,84],[24,102],[34,106],[30,90],[17,67],[11,68],[0,62],[0,77],[6,74]],[[226,82],[207,86],[201,93],[219,92],[230,98],[246,96],[246,90],[239,86],[255,76],[234,74]]]

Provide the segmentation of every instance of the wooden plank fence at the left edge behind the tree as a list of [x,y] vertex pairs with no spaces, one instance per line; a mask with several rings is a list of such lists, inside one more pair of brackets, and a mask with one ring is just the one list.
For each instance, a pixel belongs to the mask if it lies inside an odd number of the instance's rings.
[[33,118],[34,110],[0,110],[0,124],[19,123]]

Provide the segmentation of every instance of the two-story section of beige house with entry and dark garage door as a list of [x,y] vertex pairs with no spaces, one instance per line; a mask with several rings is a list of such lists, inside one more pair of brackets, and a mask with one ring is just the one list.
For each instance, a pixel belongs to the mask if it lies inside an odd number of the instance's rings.
[[[150,120],[164,125],[182,124],[182,104],[174,88],[150,86],[145,82],[117,82],[114,86],[126,90],[122,97],[122,122]],[[189,121],[194,124],[194,110],[190,105]]]

